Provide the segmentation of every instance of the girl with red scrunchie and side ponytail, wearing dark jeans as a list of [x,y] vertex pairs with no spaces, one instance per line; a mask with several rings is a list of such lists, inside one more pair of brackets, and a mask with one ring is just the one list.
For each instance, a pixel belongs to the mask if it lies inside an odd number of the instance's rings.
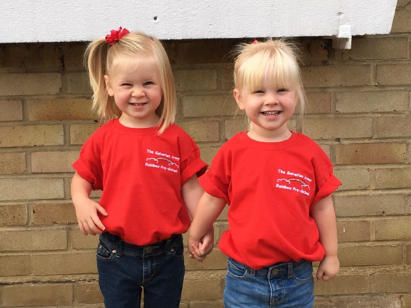
[[[99,285],[105,307],[179,307],[182,233],[190,226],[207,165],[173,124],[176,95],[166,51],[127,29],[91,42],[86,61],[93,107],[106,122],[73,164],[71,196],[79,229],[100,234]],[[89,197],[102,190],[99,202]],[[212,229],[203,249],[212,248]]]

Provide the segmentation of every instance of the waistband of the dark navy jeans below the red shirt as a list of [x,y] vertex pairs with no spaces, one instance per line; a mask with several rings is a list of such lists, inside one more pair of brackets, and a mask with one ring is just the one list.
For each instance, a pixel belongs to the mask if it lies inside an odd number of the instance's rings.
[[111,248],[117,257],[121,257],[123,254],[148,257],[151,255],[160,255],[165,250],[182,244],[183,236],[181,234],[173,234],[171,235],[171,238],[167,240],[162,240],[145,246],[129,244],[119,236],[108,232],[102,233],[100,235],[100,240]]

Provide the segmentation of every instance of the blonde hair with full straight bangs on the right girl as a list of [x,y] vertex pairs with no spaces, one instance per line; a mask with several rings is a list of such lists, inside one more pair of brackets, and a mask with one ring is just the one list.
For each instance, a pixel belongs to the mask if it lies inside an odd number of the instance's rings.
[[235,88],[250,93],[260,89],[264,82],[279,88],[295,88],[299,105],[298,122],[301,124],[307,98],[298,53],[295,44],[284,38],[239,44],[234,50]]

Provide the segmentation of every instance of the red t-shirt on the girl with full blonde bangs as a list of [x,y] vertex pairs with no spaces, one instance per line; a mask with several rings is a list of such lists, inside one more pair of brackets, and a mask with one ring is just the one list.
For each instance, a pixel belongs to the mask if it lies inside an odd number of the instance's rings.
[[341,182],[332,162],[302,133],[282,142],[258,142],[238,133],[200,178],[204,190],[229,205],[229,230],[219,248],[256,270],[277,262],[323,259],[310,209]]

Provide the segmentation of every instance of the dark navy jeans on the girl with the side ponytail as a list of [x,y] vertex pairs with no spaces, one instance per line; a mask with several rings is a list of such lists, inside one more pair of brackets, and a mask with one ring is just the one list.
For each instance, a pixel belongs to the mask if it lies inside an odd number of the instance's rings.
[[182,235],[147,246],[127,244],[110,233],[97,248],[99,285],[106,308],[179,307],[184,280]]

